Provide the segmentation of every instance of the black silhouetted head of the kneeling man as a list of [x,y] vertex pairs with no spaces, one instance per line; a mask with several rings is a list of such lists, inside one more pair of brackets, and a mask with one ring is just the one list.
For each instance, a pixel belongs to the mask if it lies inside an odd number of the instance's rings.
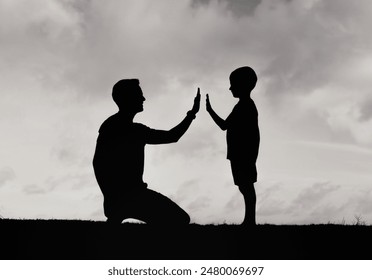
[[146,100],[138,79],[118,81],[112,88],[112,98],[119,110],[133,113],[143,111],[143,101]]

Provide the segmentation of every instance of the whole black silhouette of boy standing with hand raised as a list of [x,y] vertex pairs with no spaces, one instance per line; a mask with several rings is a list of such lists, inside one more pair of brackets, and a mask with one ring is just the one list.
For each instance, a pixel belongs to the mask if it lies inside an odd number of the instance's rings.
[[231,163],[234,184],[239,187],[245,202],[243,225],[256,225],[256,159],[260,144],[258,112],[251,99],[251,91],[257,83],[257,75],[248,66],[238,68],[230,74],[230,91],[239,102],[227,117],[220,118],[212,109],[207,94],[206,109],[214,122],[226,130],[227,159]]

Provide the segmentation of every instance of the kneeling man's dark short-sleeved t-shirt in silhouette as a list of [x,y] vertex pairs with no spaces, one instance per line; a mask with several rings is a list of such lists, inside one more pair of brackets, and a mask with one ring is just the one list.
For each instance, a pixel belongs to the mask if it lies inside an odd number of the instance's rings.
[[125,121],[120,114],[100,127],[93,159],[94,171],[104,195],[122,195],[146,188],[143,182],[145,144],[156,130]]

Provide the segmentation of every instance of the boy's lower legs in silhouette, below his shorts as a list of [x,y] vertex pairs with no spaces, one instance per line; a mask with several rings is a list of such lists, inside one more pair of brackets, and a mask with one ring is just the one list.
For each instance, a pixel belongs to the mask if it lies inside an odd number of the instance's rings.
[[243,225],[255,226],[256,225],[256,191],[254,184],[244,184],[239,186],[240,192],[243,194],[245,203],[245,216]]

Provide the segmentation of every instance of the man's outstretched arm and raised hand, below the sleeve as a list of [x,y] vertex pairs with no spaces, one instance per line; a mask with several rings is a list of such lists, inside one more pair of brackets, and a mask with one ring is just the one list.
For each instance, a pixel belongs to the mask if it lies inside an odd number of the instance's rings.
[[200,107],[200,89],[194,99],[194,105],[190,111],[187,112],[186,117],[175,127],[166,131],[166,130],[151,130],[150,135],[148,136],[148,144],[168,144],[177,142],[183,134],[190,127],[190,124],[195,119],[196,114],[199,111]]

